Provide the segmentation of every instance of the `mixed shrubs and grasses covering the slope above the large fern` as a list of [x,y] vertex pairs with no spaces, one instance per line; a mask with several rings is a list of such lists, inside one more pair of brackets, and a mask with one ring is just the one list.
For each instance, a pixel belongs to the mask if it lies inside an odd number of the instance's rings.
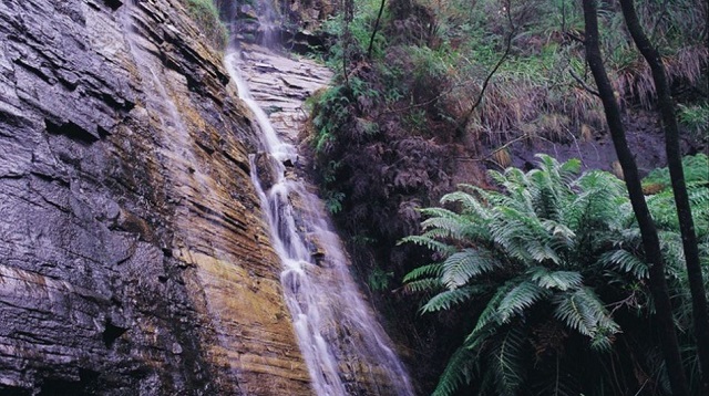
[[[356,1],[351,21],[340,14],[326,23],[335,38],[328,62],[337,74],[311,101],[310,142],[323,196],[358,241],[392,246],[417,229],[412,209],[455,183],[484,183],[483,165],[511,165],[512,144],[575,145],[604,134],[600,102],[588,91],[577,1],[387,4],[380,23],[379,0]],[[686,101],[680,119],[687,134],[702,139],[707,4],[638,6],[654,27],[675,94]],[[612,2],[604,2],[600,17],[618,97],[626,107],[651,108],[650,72],[623,17]],[[397,274],[408,270],[400,256],[382,259]]]

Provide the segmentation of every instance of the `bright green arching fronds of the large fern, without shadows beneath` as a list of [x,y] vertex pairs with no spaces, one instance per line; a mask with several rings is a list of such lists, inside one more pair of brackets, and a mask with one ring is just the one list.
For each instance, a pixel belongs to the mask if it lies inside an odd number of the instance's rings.
[[[461,185],[441,199],[452,209],[422,209],[423,233],[402,240],[442,259],[404,278],[408,290],[435,293],[422,312],[486,301],[436,395],[450,395],[472,378],[465,356],[487,359],[492,372],[480,373],[479,379],[487,378],[497,394],[516,394],[524,383],[520,359],[530,347],[524,333],[534,325],[536,306],[546,312],[542,321],[557,321],[583,335],[592,350],[612,350],[620,327],[595,289],[648,277],[623,183],[605,171],[579,175],[576,159],[559,164],[546,155],[537,157],[538,169],[491,171],[502,191]],[[695,201],[709,201],[707,189],[693,194]],[[669,261],[679,264],[676,232],[667,233],[664,248]]]

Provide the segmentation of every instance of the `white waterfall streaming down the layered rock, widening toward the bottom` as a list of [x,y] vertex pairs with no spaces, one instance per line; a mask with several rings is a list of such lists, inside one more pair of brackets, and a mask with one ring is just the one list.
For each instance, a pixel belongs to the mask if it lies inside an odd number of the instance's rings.
[[251,97],[240,62],[237,50],[225,59],[261,129],[266,153],[258,161],[251,158],[251,178],[284,264],[285,296],[317,395],[413,395],[391,342],[349,273],[348,258],[322,202],[295,175],[296,148],[277,136]]

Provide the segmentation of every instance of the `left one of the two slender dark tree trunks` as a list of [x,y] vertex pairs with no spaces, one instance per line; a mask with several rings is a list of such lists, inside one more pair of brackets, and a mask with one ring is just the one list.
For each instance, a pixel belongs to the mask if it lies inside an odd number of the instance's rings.
[[667,280],[665,279],[665,263],[662,261],[657,229],[655,228],[655,222],[645,201],[637,165],[635,164],[633,153],[628,148],[628,142],[625,137],[620,108],[614,96],[613,86],[606,74],[606,69],[600,55],[596,0],[583,0],[583,8],[584,20],[586,21],[586,60],[596,81],[600,100],[603,101],[608,129],[610,131],[613,144],[616,148],[618,161],[623,168],[630,204],[633,205],[633,210],[635,211],[635,217],[643,236],[645,259],[650,265],[650,291],[655,299],[662,354],[672,387],[672,395],[688,396],[689,390],[679,354],[679,343],[677,342],[677,334],[675,333],[672,306],[667,290]]

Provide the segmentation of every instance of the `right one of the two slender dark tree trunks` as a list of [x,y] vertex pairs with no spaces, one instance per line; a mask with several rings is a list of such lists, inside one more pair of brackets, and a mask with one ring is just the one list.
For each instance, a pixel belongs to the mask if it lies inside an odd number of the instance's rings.
[[657,91],[657,106],[660,112],[660,121],[665,128],[665,145],[669,175],[672,181],[675,194],[675,205],[679,218],[679,229],[682,236],[682,247],[687,261],[687,274],[689,278],[689,289],[691,291],[692,311],[695,319],[695,337],[697,338],[697,351],[701,367],[701,379],[705,395],[709,395],[709,311],[707,310],[707,292],[705,290],[703,278],[701,275],[701,264],[699,263],[699,248],[697,244],[697,233],[689,206],[689,196],[685,183],[685,170],[682,169],[681,153],[679,148],[679,131],[677,118],[675,117],[675,106],[670,96],[667,73],[662,65],[657,49],[650,43],[640,21],[633,0],[620,0],[620,8],[625,23],[630,31],[633,41],[650,65],[655,90]]

